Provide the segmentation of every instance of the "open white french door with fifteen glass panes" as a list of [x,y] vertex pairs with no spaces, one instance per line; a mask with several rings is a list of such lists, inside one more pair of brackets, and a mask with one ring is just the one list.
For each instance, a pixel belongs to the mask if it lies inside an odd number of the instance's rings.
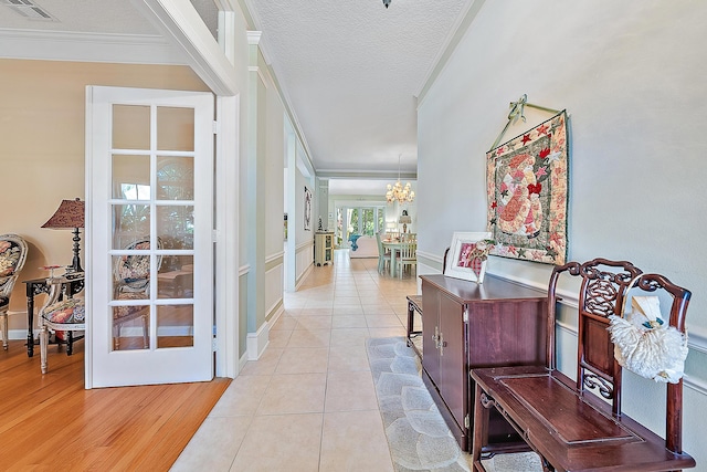
[[86,388],[213,378],[213,95],[86,88]]

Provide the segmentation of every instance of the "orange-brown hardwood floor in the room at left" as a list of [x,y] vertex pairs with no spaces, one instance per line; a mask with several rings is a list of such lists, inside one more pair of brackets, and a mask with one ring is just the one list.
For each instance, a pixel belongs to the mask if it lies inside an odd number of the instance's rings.
[[83,342],[45,375],[23,342],[0,352],[0,470],[167,471],[230,384],[85,390],[83,360]]

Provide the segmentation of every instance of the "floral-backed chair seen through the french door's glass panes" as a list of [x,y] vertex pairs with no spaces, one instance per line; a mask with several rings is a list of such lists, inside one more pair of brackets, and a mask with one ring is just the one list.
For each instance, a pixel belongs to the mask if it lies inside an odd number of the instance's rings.
[[[157,240],[158,248],[162,249],[161,240]],[[137,240],[126,248],[128,251],[150,249],[149,238]],[[162,262],[162,256],[157,256],[157,270]],[[117,258],[113,268],[114,294],[116,301],[145,301],[150,298],[150,256],[149,254],[126,254]],[[120,329],[123,325],[134,319],[143,322],[143,348],[149,347],[149,315],[147,304],[130,304],[113,307],[113,348],[120,349]]]

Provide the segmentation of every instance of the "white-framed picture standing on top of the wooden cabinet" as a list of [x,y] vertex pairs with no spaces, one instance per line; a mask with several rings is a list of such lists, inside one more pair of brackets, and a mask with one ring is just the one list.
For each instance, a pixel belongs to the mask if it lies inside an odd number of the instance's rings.
[[444,275],[484,283],[486,260],[494,245],[490,232],[454,232]]

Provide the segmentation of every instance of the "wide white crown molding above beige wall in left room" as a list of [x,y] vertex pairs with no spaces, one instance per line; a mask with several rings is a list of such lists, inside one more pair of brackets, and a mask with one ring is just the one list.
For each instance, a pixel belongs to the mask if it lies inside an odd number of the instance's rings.
[[42,61],[184,65],[157,35],[0,29],[0,57]]

